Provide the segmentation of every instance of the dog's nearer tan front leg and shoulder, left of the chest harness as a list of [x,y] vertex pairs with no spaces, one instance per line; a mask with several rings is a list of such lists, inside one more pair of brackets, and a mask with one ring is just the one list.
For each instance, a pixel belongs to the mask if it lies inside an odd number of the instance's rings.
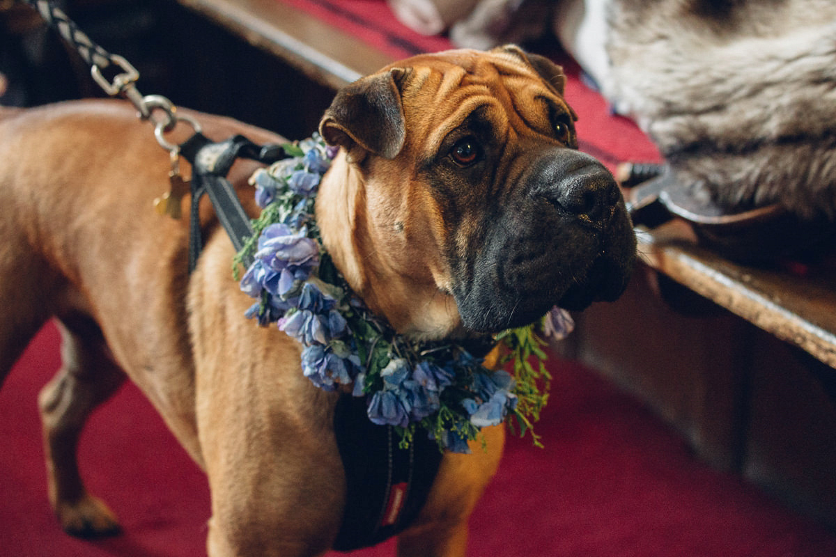
[[208,554],[323,554],[344,509],[339,394],[303,376],[297,342],[246,319],[252,301],[230,276],[231,260],[230,242],[217,235],[191,279],[196,416],[212,495]]

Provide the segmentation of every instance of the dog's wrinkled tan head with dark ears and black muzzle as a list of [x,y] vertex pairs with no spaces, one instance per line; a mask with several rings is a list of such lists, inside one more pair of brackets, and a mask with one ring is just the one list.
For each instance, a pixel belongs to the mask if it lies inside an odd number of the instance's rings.
[[362,176],[367,222],[354,215],[352,228],[366,239],[355,244],[385,254],[391,281],[414,281],[404,303],[420,305],[430,283],[452,296],[461,322],[438,334],[497,332],[624,290],[630,219],[609,172],[576,150],[563,84],[557,66],[515,47],[451,51],[361,79],[326,113],[325,139]]

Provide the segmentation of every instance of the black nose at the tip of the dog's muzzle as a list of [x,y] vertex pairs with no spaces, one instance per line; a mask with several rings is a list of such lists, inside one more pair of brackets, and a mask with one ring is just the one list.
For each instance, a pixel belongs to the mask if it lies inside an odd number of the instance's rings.
[[588,154],[559,149],[544,165],[543,175],[548,200],[568,215],[586,217],[597,223],[607,220],[620,192],[604,165]]

